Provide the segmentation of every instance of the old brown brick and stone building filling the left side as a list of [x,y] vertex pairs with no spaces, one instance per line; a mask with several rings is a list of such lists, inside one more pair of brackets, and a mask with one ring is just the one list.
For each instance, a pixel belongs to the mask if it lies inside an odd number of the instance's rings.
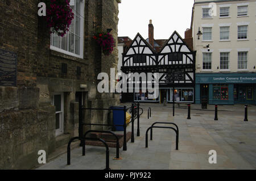
[[[79,104],[103,108],[119,101],[113,93],[98,93],[97,75],[110,74],[118,63],[121,0],[71,0],[73,26],[80,28],[63,38],[49,35],[38,16],[39,2],[0,0],[0,75],[9,70],[7,55],[16,61],[13,84],[0,84],[0,169],[31,169],[38,165],[39,150],[48,159],[77,136]],[[116,43],[110,56],[92,38],[96,30],[107,29]],[[106,117],[89,112],[84,121],[106,123]]]

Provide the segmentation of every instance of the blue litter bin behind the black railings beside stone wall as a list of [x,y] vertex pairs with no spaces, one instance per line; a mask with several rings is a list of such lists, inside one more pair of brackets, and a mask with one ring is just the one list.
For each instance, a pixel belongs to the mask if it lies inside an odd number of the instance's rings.
[[113,110],[113,124],[115,127],[115,131],[123,131],[123,126],[115,126],[115,125],[123,125],[123,123],[125,123],[124,122],[125,112],[123,111],[123,108],[124,108],[123,106],[110,107],[110,109],[116,109],[116,110]]

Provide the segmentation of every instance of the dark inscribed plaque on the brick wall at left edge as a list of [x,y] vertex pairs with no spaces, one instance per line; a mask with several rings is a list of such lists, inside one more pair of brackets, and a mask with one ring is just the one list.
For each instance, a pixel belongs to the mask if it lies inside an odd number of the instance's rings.
[[16,86],[17,54],[0,49],[0,86]]

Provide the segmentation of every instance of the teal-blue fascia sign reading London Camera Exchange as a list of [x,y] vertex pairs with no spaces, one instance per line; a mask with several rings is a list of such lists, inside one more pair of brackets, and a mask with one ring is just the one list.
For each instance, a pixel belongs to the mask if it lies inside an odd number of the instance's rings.
[[256,73],[251,74],[197,74],[196,83],[256,83]]

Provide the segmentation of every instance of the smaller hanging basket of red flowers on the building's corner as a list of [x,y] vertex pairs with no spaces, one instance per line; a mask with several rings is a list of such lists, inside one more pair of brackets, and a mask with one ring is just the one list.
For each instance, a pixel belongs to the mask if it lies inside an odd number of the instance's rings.
[[93,36],[93,39],[96,40],[97,44],[101,46],[102,53],[104,53],[106,56],[112,54],[115,47],[115,41],[110,33],[98,32]]

